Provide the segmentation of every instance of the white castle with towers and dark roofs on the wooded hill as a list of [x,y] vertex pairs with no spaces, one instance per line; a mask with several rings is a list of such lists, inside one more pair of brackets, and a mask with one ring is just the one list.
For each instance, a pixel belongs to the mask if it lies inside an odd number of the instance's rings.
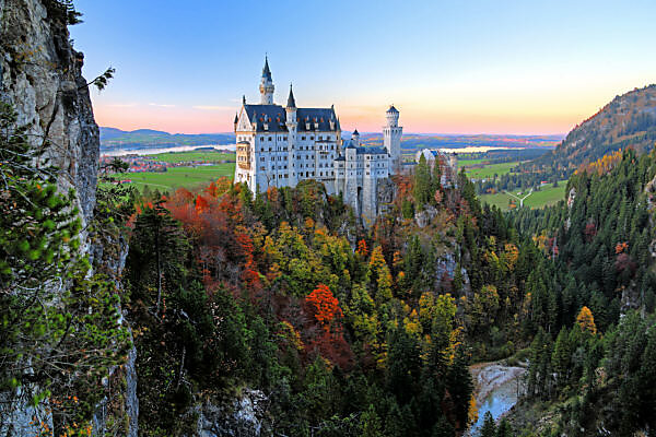
[[383,186],[401,168],[399,111],[390,106],[383,128],[384,146],[365,147],[358,130],[343,140],[335,107],[297,108],[290,85],[286,106],[273,103],[273,80],[265,60],[260,103],[247,104],[235,116],[237,165],[235,182],[253,192],[269,187],[295,187],[302,180],[323,182],[330,194],[341,192],[359,216],[375,220],[391,199]]

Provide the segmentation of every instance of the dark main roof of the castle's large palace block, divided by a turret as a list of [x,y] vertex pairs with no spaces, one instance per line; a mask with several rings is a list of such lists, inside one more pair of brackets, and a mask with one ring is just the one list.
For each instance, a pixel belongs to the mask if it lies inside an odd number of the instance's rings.
[[[286,132],[286,111],[280,105],[244,105],[248,120],[257,122],[258,132]],[[330,129],[330,120],[333,120],[335,129]],[[296,109],[296,120],[298,132],[314,131],[336,131],[339,129],[339,122],[333,108],[298,108]],[[269,129],[265,130],[263,123],[269,123]],[[306,122],[309,129],[306,129]],[[318,127],[315,129],[315,122]]]

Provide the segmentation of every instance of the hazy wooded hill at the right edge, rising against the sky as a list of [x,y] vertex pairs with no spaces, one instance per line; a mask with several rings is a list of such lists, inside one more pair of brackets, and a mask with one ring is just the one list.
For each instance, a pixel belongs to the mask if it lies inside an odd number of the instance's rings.
[[642,153],[656,142],[656,85],[617,96],[597,114],[574,128],[553,151],[526,169],[577,168],[604,155],[632,146]]

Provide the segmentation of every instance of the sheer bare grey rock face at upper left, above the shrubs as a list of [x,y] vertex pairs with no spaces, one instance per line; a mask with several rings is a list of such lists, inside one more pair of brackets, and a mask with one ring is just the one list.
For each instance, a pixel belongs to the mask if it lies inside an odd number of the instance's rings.
[[0,98],[15,107],[20,125],[32,126],[34,144],[60,168],[60,188],[77,190],[89,221],[99,133],[81,73],[84,57],[54,8],[52,0],[0,0]]

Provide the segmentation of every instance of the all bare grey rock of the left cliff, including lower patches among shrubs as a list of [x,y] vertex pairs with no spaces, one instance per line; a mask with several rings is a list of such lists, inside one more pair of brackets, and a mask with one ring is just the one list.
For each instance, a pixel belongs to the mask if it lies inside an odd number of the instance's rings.
[[[94,120],[89,85],[82,76],[84,57],[70,43],[66,10],[57,0],[0,0],[0,101],[17,113],[19,126],[28,126],[28,139],[44,151],[44,157],[58,169],[58,187],[62,192],[74,189],[77,206],[84,223],[93,217],[96,199],[99,132]],[[103,258],[103,249],[92,247],[82,236],[84,250]],[[124,251],[127,255],[127,245]],[[125,256],[107,265],[117,277]],[[129,418],[121,435],[137,436],[136,350],[128,363],[112,373],[120,373],[125,389],[124,410]],[[108,375],[112,380],[112,375]],[[107,402],[105,402],[107,403]],[[26,405],[2,411],[8,418],[0,424],[0,435],[40,435],[38,422],[49,424],[47,401],[38,410]],[[14,411],[15,410],[15,411]],[[104,405],[94,417],[94,435],[105,428]]]

